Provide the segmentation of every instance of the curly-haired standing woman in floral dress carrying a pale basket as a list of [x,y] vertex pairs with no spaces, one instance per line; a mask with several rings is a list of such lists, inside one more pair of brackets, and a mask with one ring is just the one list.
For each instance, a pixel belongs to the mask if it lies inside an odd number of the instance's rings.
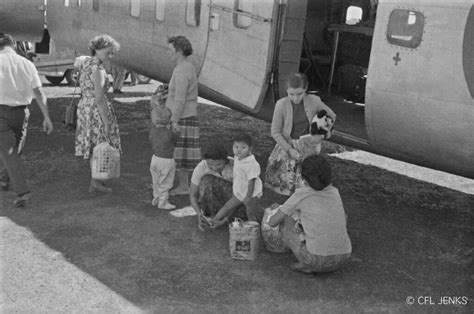
[[[91,58],[84,61],[80,75],[82,98],[77,108],[76,156],[89,159],[98,143],[109,140],[121,149],[117,118],[112,104],[107,100],[109,87],[104,64],[110,62],[120,49],[119,43],[108,35],[99,35],[91,40]],[[105,182],[91,178],[89,192],[111,192]]]

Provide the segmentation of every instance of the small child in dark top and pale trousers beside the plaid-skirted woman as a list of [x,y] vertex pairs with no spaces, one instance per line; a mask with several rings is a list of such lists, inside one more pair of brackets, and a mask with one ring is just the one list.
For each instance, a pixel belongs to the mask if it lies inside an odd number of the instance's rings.
[[153,149],[150,172],[153,178],[152,205],[160,209],[175,209],[168,201],[169,190],[173,187],[176,163],[173,159],[174,133],[170,130],[171,110],[156,106],[151,111],[152,127],[150,143]]

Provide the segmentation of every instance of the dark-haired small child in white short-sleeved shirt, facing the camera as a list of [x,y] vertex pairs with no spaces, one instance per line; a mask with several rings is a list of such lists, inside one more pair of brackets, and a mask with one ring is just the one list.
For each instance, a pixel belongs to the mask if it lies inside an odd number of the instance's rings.
[[[252,154],[252,138],[247,134],[234,137],[234,169],[232,197],[224,204],[212,219],[214,228],[228,222],[228,218],[242,203],[245,205],[248,220],[257,221],[262,180],[260,165]],[[257,217],[258,216],[258,217]]]

